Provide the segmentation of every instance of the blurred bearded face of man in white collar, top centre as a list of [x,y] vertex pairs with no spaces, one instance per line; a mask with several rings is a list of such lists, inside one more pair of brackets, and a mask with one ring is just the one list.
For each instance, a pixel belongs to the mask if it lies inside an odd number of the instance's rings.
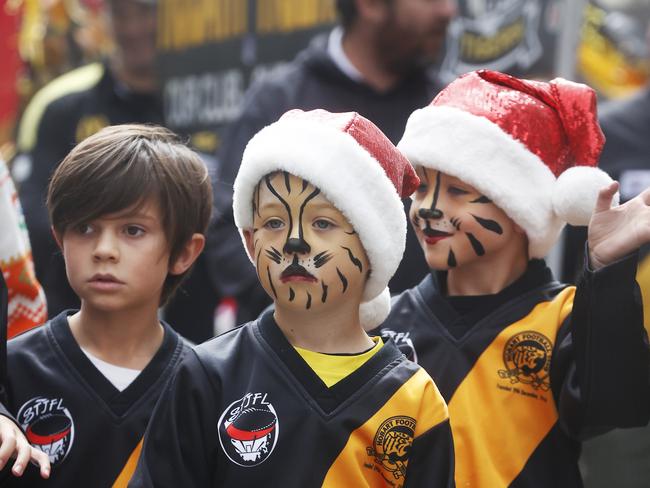
[[386,67],[401,74],[435,61],[456,15],[456,0],[385,1],[377,43]]

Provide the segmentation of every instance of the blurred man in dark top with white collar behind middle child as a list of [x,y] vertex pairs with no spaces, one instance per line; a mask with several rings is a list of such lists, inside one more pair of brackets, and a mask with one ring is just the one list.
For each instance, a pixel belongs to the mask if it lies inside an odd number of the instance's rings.
[[[441,88],[431,64],[442,51],[455,0],[337,0],[337,9],[339,25],[250,88],[218,154],[216,219],[205,252],[219,293],[236,300],[238,323],[270,303],[232,220],[232,183],[249,139],[289,109],[324,108],[359,112],[397,143],[409,114]],[[391,291],[415,285],[425,269],[409,234]]]

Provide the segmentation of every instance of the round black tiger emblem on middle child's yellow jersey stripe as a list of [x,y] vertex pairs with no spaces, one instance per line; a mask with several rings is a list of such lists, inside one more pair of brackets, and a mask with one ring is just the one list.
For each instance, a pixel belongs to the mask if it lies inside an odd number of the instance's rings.
[[379,426],[372,447],[366,451],[396,481],[404,481],[414,436],[415,419],[405,415],[390,417]]

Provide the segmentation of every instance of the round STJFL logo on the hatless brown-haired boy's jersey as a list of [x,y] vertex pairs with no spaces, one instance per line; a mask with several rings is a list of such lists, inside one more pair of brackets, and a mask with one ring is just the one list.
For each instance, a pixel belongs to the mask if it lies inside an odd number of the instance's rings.
[[74,420],[63,398],[32,398],[20,407],[16,420],[32,446],[49,456],[52,466],[63,462],[74,441]]

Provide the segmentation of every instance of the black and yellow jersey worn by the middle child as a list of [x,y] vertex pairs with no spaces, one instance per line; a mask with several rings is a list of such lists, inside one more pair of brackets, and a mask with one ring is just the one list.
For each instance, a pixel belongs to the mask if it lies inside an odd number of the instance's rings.
[[392,341],[328,388],[267,312],[182,362],[129,486],[453,486],[447,407]]

